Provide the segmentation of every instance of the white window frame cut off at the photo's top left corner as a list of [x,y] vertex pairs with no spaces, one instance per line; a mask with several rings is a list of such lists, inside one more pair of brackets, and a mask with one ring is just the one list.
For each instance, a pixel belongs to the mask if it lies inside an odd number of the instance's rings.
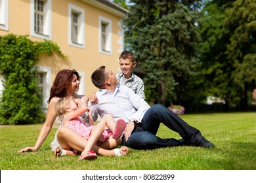
[[0,29],[9,31],[9,0],[0,0]]

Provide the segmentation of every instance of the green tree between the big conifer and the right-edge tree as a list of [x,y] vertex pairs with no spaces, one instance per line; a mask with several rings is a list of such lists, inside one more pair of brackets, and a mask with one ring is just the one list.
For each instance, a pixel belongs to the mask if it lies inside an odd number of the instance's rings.
[[226,46],[230,38],[230,30],[224,28],[223,22],[226,7],[232,6],[228,1],[206,1],[202,8],[202,19],[198,24],[198,31],[202,41],[198,44],[200,53],[201,78],[198,88],[201,95],[222,97],[226,99],[230,93],[230,71],[232,64],[226,58]]

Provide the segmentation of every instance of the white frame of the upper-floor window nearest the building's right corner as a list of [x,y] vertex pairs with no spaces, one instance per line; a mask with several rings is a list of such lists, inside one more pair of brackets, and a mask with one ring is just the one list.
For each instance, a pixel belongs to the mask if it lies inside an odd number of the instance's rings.
[[[103,16],[99,16],[98,19],[98,51],[102,54],[112,55],[112,21]],[[102,24],[106,25],[106,49],[102,48]]]

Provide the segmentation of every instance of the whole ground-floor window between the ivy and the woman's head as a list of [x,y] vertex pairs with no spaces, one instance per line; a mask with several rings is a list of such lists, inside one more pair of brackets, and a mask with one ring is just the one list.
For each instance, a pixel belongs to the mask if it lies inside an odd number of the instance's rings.
[[51,67],[37,67],[38,87],[41,92],[41,95],[43,95],[42,107],[45,108],[45,110],[47,110],[47,100],[49,99],[49,94],[51,90]]

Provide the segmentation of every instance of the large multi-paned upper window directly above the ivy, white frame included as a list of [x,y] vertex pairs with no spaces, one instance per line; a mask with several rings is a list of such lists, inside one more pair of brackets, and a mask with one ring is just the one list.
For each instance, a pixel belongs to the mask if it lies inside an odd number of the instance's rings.
[[30,1],[30,34],[33,37],[51,40],[51,1]]

